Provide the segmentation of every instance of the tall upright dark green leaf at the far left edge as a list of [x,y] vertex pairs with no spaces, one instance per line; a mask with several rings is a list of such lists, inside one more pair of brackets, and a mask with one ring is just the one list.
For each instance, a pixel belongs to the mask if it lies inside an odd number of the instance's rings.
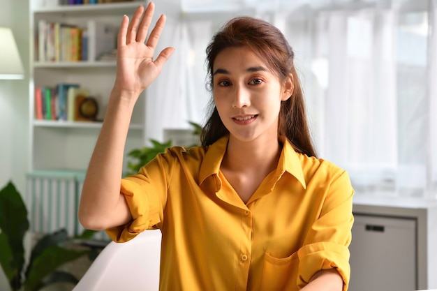
[[20,274],[24,266],[24,234],[29,229],[27,209],[20,193],[12,182],[0,190],[0,230],[6,234],[13,256],[12,268],[17,270],[10,281],[13,289],[20,287]]

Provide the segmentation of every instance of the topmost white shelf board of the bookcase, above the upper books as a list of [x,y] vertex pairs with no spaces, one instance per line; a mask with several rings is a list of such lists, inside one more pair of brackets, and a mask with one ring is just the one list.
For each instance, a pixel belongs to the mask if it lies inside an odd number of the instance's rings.
[[[68,16],[86,16],[86,15],[108,15],[125,13],[126,10],[134,10],[140,5],[145,5],[145,1],[118,2],[118,3],[101,3],[101,4],[84,4],[84,5],[59,5],[53,7],[35,8],[36,15],[63,14]],[[121,14],[123,15],[123,14]]]

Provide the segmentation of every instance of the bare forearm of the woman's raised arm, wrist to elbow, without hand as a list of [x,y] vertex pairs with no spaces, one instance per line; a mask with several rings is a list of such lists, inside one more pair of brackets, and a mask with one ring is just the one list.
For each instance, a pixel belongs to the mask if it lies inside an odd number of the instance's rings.
[[108,109],[89,162],[79,205],[84,227],[103,229],[126,223],[124,197],[120,195],[124,147],[136,98],[112,90]]

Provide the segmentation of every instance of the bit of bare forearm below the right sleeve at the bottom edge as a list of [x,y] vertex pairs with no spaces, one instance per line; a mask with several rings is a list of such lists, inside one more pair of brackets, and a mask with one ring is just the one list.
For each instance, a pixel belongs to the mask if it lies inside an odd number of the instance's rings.
[[318,271],[301,291],[341,291],[343,279],[336,269]]

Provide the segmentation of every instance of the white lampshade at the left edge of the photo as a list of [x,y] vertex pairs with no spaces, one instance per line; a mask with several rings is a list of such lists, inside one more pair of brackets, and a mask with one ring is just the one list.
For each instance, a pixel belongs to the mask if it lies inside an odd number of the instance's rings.
[[12,31],[0,27],[0,79],[22,79],[24,68]]

